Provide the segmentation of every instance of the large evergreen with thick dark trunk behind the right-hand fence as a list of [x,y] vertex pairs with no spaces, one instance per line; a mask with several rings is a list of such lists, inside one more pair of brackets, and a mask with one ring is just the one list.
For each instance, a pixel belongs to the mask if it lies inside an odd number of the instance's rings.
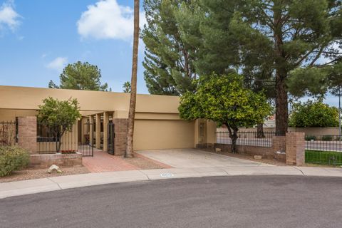
[[341,41],[341,31],[336,31],[333,24],[341,21],[341,1],[246,0],[243,3],[229,29],[244,51],[254,53],[264,46],[264,56],[274,69],[276,130],[286,133],[289,72],[300,66],[317,65],[321,56],[331,56],[337,51],[333,45]]

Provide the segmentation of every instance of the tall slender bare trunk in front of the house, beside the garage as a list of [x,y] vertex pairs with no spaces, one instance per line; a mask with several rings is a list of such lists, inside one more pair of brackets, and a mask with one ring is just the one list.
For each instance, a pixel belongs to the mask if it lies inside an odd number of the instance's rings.
[[128,113],[128,134],[125,157],[133,157],[133,133],[135,118],[135,103],[137,99],[137,71],[138,71],[138,46],[139,46],[139,0],[134,0],[134,36],[133,36],[133,61],[132,78],[130,81],[130,110]]

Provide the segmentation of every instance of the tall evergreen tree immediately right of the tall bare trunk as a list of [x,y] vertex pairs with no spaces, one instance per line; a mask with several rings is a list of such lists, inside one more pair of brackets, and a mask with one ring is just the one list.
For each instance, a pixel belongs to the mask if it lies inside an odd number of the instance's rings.
[[195,90],[194,59],[197,47],[182,39],[177,13],[190,0],[145,0],[147,24],[142,30],[146,51],[142,65],[152,94],[180,95]]

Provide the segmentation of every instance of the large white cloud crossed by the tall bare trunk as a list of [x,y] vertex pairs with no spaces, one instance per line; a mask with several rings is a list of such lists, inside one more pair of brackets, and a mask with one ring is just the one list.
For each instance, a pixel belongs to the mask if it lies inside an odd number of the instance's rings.
[[[122,39],[133,37],[133,9],[120,6],[116,0],[101,0],[88,6],[77,22],[78,33],[83,38]],[[145,24],[145,14],[140,13],[140,26]]]

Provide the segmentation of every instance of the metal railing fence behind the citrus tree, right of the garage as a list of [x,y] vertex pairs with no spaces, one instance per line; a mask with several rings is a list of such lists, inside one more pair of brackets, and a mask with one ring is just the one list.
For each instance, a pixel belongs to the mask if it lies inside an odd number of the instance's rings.
[[[272,138],[280,136],[281,134],[275,132],[238,132],[237,145],[252,145],[259,147],[271,147]],[[232,144],[232,139],[229,138],[229,132],[219,131],[216,133],[216,142],[219,144]]]

